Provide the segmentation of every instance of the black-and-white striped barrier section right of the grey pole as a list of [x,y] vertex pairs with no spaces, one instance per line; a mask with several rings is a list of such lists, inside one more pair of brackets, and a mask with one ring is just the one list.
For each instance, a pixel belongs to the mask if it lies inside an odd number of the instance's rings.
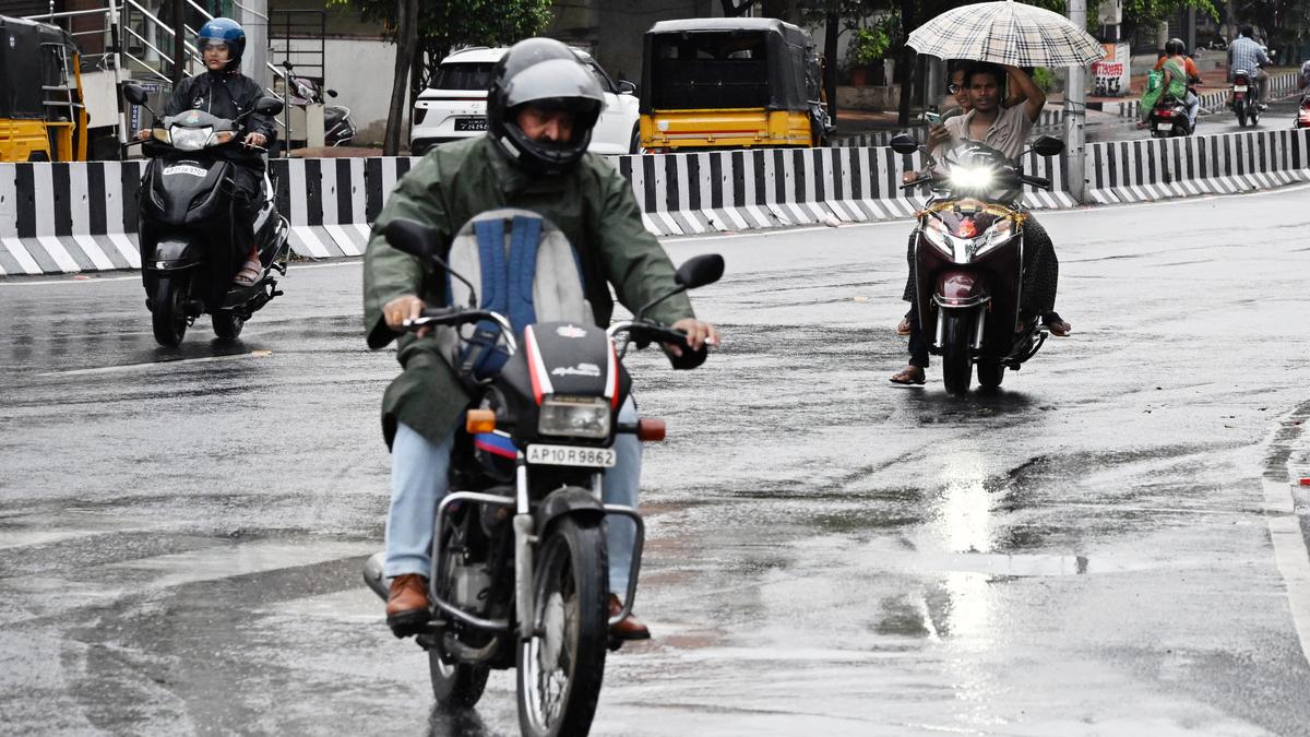
[[1310,130],[1087,146],[1087,195],[1110,205],[1233,194],[1310,180]]

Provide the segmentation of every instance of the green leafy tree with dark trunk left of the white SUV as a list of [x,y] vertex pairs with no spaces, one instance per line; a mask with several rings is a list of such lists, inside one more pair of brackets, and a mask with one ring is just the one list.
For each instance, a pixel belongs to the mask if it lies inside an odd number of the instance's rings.
[[[381,24],[384,38],[397,43],[397,51],[410,47],[401,20],[406,10],[414,13],[413,51],[397,60],[397,76],[409,81],[410,108],[451,51],[461,46],[508,46],[540,34],[552,18],[552,0],[328,0],[328,5],[354,8],[362,20]],[[402,60],[409,63],[407,73],[401,70]],[[405,85],[396,87],[401,100],[396,100],[393,89],[386,121],[389,143],[403,117]]]

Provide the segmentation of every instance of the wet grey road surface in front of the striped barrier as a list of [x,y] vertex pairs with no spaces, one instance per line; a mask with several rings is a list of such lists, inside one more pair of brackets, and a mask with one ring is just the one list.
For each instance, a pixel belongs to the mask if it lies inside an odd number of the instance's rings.
[[[1043,214],[1076,337],[962,400],[887,383],[904,223],[668,241],[726,256],[726,344],[631,363],[655,640],[593,733],[1306,733],[1307,197]],[[360,582],[359,283],[166,351],[134,278],[0,282],[0,733],[516,733],[506,673],[435,712]]]

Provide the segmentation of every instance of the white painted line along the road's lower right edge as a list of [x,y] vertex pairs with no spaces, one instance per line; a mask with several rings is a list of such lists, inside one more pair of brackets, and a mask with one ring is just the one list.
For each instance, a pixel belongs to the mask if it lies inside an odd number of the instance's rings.
[[[1305,420],[1310,414],[1310,405],[1303,405],[1302,410],[1294,410],[1277,424],[1265,443],[1268,455],[1273,455],[1277,448],[1294,445],[1301,435],[1302,425],[1293,425],[1293,417]],[[1280,433],[1288,431],[1290,437],[1279,441]],[[1269,540],[1273,543],[1273,557],[1279,564],[1279,572],[1288,586],[1288,607],[1292,610],[1292,624],[1297,637],[1301,640],[1301,654],[1310,662],[1310,551],[1306,549],[1305,538],[1301,534],[1301,521],[1296,514],[1296,502],[1292,497],[1292,459],[1284,462],[1282,468],[1265,468],[1260,473],[1260,484],[1264,487],[1265,521],[1269,526]],[[1275,477],[1271,479],[1269,476]]]

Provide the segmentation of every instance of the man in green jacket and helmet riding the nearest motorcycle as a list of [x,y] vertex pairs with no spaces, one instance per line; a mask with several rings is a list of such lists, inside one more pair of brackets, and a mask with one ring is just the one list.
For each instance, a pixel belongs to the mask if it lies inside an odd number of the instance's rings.
[[[673,266],[642,224],[630,185],[587,153],[604,104],[595,76],[567,46],[546,38],[516,43],[491,72],[487,135],[434,148],[398,182],[373,226],[364,256],[368,345],[379,349],[397,340],[403,366],[383,399],[383,431],[392,447],[386,619],[397,636],[430,616],[432,519],[448,490],[456,425],[469,395],[431,336],[400,334],[405,320],[419,317],[424,306],[443,304],[445,279],[428,278],[419,258],[392,248],[386,224],[415,220],[436,229],[443,248],[449,248],[458,228],[479,212],[532,210],[558,226],[575,248],[599,327],[608,327],[613,312],[609,285],[634,311],[672,291]],[[659,303],[647,316],[685,332],[693,351],[718,344],[714,327],[696,319],[685,295]],[[672,346],[665,350],[681,354]],[[635,508],[641,446],[631,435],[614,443],[618,466],[605,473],[603,497]],[[625,591],[635,528],[616,522],[607,523],[609,590]],[[610,616],[622,611],[613,593],[609,607]],[[650,637],[634,616],[614,624],[610,633],[620,640]]]

